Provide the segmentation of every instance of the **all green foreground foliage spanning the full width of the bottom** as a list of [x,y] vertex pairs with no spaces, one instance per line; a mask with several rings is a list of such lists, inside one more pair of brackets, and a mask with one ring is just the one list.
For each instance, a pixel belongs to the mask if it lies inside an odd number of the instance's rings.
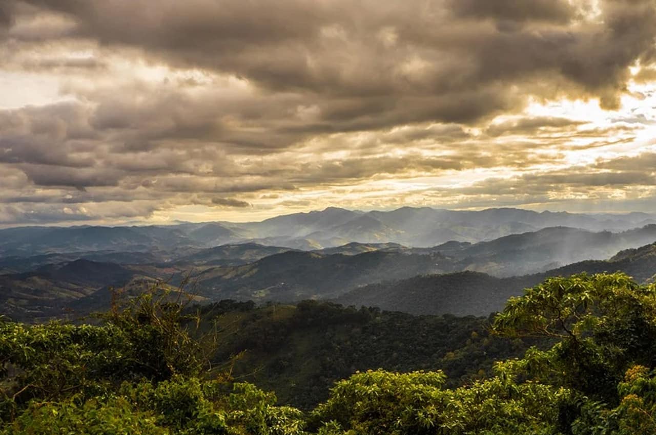
[[491,333],[552,345],[480,379],[358,371],[306,411],[236,379],[239,360],[217,367],[221,335],[186,302],[147,295],[94,324],[2,320],[0,433],[656,433],[656,286],[624,274],[549,278],[510,299]]

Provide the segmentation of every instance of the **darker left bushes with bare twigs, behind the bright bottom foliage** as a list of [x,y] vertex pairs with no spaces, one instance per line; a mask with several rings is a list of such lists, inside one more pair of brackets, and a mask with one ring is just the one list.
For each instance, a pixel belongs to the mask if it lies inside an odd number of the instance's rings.
[[198,375],[203,349],[183,310],[184,303],[147,293],[104,314],[102,326],[0,322],[3,412],[33,399],[106,394],[123,381]]

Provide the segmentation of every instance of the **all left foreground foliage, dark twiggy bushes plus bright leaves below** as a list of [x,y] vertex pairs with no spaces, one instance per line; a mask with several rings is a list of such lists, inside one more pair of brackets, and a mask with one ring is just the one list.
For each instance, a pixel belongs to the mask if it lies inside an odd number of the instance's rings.
[[213,349],[190,335],[185,301],[155,294],[96,325],[0,319],[0,434],[302,433],[275,394],[207,378]]

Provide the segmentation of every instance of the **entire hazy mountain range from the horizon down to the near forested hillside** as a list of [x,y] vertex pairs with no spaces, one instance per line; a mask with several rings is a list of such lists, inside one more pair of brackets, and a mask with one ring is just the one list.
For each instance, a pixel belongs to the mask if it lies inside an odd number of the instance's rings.
[[[625,271],[649,280],[653,221],[647,214],[329,208],[258,223],[12,228],[0,231],[0,314],[86,314],[110,303],[110,288],[136,294],[188,280],[199,299],[215,301],[331,299],[487,315],[553,274]],[[571,226],[541,228],[551,224]]]

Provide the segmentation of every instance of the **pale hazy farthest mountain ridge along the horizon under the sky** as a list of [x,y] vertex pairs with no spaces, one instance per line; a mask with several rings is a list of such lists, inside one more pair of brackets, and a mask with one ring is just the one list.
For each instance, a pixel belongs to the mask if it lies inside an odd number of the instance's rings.
[[403,207],[390,212],[342,208],[289,214],[261,222],[181,223],[132,227],[18,227],[0,230],[0,255],[79,251],[171,252],[255,242],[300,250],[350,242],[430,247],[451,240],[481,242],[546,227],[626,231],[656,224],[651,214],[572,214],[492,208],[477,212]]

